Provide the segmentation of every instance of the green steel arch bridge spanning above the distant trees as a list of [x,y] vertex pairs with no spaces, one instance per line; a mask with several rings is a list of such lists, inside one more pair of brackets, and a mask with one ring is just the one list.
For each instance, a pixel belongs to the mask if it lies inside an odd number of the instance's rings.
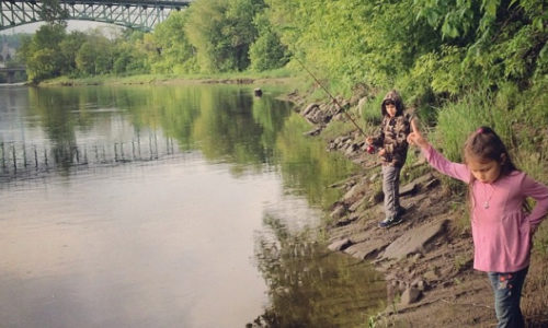
[[[111,23],[151,31],[172,10],[189,7],[193,0],[59,0],[66,20]],[[0,31],[43,21],[44,1],[8,0],[0,2]]]

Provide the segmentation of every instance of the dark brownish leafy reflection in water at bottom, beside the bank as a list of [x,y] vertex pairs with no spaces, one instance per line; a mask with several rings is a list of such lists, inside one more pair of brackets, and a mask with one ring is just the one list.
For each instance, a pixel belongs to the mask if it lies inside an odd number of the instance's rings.
[[356,327],[378,309],[386,290],[370,267],[329,253],[309,232],[293,233],[279,219],[267,215],[264,224],[255,260],[271,304],[248,327]]

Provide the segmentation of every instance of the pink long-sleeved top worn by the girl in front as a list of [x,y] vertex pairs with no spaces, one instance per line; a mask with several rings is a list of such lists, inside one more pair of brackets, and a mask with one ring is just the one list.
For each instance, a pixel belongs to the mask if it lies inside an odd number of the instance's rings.
[[[470,183],[471,173],[465,164],[449,162],[431,145],[422,152],[441,173]],[[486,272],[515,272],[526,268],[532,231],[548,213],[548,187],[514,171],[492,184],[476,179],[471,188],[473,268]],[[537,201],[530,213],[522,207],[527,197]]]

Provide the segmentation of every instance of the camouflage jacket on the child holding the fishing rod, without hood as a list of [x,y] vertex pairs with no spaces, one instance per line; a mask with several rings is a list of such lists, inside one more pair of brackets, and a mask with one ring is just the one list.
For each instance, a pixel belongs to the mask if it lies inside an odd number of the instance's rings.
[[381,155],[383,165],[401,167],[408,155],[407,138],[411,131],[410,117],[400,115],[396,117],[384,116],[380,133],[373,138],[373,144],[385,149]]

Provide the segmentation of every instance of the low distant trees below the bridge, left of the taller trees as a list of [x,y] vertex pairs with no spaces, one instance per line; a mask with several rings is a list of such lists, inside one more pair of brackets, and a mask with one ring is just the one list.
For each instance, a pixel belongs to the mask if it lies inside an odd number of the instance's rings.
[[64,25],[44,25],[21,38],[18,57],[34,82],[64,75],[126,74],[150,71],[157,47],[150,34],[106,37],[100,30],[66,33]]

